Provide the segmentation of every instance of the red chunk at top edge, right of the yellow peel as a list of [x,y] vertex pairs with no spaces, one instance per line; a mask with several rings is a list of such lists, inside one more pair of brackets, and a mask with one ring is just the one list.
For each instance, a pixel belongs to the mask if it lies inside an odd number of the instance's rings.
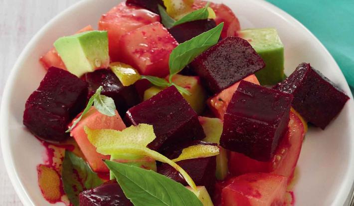
[[[193,8],[202,8],[207,2],[208,1],[206,0],[194,0]],[[240,30],[240,22],[238,21],[236,15],[232,12],[231,8],[223,3],[213,2],[209,4],[209,7],[211,7],[215,12],[216,24],[224,22],[221,37],[226,38],[227,36],[237,36],[237,31]]]

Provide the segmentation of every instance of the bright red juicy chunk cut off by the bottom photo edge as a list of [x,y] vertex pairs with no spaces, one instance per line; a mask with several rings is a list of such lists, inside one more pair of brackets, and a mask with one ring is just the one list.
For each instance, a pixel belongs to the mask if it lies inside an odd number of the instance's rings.
[[229,180],[222,189],[222,206],[283,206],[287,178],[267,173],[248,173]]

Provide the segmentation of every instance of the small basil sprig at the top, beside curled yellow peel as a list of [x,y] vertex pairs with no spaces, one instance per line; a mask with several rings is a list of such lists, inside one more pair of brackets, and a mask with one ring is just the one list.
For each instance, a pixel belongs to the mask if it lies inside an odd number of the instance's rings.
[[185,22],[207,19],[209,16],[209,11],[208,11],[209,4],[210,4],[210,2],[207,2],[203,8],[199,8],[197,10],[194,10],[194,11],[184,15],[182,18],[180,18],[177,21],[175,19],[173,19],[167,13],[166,9],[162,5],[159,4],[158,7],[159,7],[162,23],[167,28],[171,28],[171,27],[174,27],[178,24],[182,24]]

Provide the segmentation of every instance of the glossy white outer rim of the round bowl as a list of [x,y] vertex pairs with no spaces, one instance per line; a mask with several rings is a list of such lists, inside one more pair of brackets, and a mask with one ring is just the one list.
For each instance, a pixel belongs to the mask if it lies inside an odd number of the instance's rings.
[[[2,150],[2,155],[3,155],[3,160],[4,160],[6,172],[10,178],[11,184],[14,187],[14,190],[15,190],[16,194],[18,195],[19,199],[21,200],[22,204],[24,204],[24,205],[34,206],[34,203],[31,200],[31,198],[29,197],[29,195],[27,194],[21,181],[18,178],[17,171],[13,167],[13,157],[10,155],[10,151],[9,151],[9,147],[8,147],[10,135],[7,130],[8,126],[9,126],[8,121],[7,121],[7,118],[9,117],[9,110],[7,108],[9,107],[10,94],[11,94],[10,91],[11,91],[11,89],[13,89],[12,82],[16,78],[16,76],[18,75],[20,69],[22,68],[21,63],[22,63],[23,59],[25,58],[25,56],[28,55],[28,51],[31,50],[38,43],[41,36],[45,35],[45,33],[48,31],[48,28],[50,27],[50,25],[55,23],[58,19],[65,16],[67,13],[72,12],[72,10],[75,10],[77,7],[84,5],[88,1],[92,1],[92,0],[80,0],[77,3],[74,3],[73,5],[69,6],[68,8],[64,9],[63,11],[61,11],[60,13],[55,15],[44,26],[41,27],[41,29],[30,39],[30,41],[27,43],[27,45],[24,47],[24,49],[20,53],[19,57],[15,61],[15,64],[11,69],[11,72],[7,78],[7,81],[6,81],[6,84],[4,87],[2,100],[1,100],[1,109],[0,109],[0,125],[2,128],[2,129],[0,129],[1,150]],[[277,14],[280,18],[283,18],[286,21],[290,21],[292,24],[297,24],[297,26],[304,29],[308,33],[308,35],[312,36],[313,39],[317,41],[316,43],[318,43],[322,47],[323,51],[331,57],[330,60],[334,61],[334,63],[335,63],[334,65],[336,65],[336,67],[337,67],[336,69],[340,71],[342,77],[345,79],[342,70],[338,66],[338,64],[335,61],[335,59],[333,58],[333,56],[327,50],[327,48],[301,22],[299,22],[297,19],[295,19],[289,13],[285,12],[284,10],[273,5],[270,2],[267,2],[265,0],[249,0],[249,1],[253,1],[263,7],[269,8],[270,10],[272,10],[272,12]],[[350,91],[348,82],[346,81],[345,83],[346,83],[345,86],[348,87],[348,90]],[[350,104],[350,107],[354,108],[352,93],[347,94],[347,95],[352,99],[352,100],[348,101],[347,104]],[[341,185],[341,188],[338,191],[338,195],[336,196],[336,198],[334,199],[334,201],[332,203],[333,206],[344,205],[346,200],[348,199],[350,191],[353,187],[353,182],[354,182],[354,127],[351,128],[351,134],[352,134],[351,138],[349,139],[349,141],[351,142],[351,145],[352,145],[352,147],[351,147],[352,150],[350,151],[350,160],[349,160],[350,166],[349,166],[348,170],[346,171],[346,175],[343,179],[345,181]]]

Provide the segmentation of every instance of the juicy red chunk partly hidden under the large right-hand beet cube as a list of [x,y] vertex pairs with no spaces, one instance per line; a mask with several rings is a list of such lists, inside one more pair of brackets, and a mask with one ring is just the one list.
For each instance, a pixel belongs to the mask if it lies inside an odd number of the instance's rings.
[[241,153],[230,152],[229,171],[232,176],[246,173],[274,173],[292,180],[305,136],[305,125],[296,113],[290,112],[289,129],[280,141],[272,159],[260,162]]

